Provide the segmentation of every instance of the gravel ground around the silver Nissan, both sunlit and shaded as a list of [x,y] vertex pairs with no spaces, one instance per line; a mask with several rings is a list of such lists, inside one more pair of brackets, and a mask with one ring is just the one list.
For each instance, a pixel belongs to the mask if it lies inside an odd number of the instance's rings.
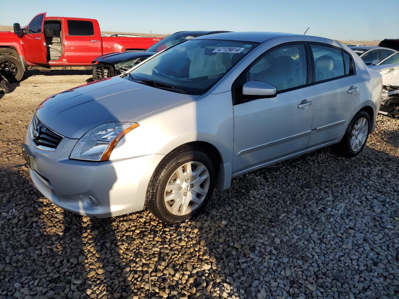
[[399,296],[399,118],[378,116],[353,159],[327,148],[238,177],[177,226],[88,218],[43,198],[19,148],[83,74],[32,72],[0,99],[0,298]]

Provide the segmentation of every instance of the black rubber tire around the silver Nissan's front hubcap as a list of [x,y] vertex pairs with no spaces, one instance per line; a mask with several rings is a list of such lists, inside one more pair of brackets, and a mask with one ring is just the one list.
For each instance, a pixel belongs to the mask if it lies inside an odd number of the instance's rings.
[[[180,165],[190,161],[202,163],[207,168],[209,172],[208,193],[196,209],[189,214],[178,216],[172,214],[166,207],[164,193],[168,180],[176,169],[178,169]],[[182,146],[168,154],[155,169],[150,179],[150,183],[148,184],[145,200],[146,207],[150,212],[152,212],[152,214],[154,214],[154,216],[166,224],[175,224],[187,220],[198,214],[198,212],[205,207],[212,196],[215,187],[215,179],[215,166],[209,156],[199,149]]]

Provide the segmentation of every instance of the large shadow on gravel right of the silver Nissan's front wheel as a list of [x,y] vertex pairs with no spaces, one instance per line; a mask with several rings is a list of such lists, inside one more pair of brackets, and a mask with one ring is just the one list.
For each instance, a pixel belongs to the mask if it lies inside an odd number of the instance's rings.
[[399,278],[392,165],[398,156],[372,148],[353,159],[327,148],[235,178],[198,216],[219,273],[246,298],[392,296]]

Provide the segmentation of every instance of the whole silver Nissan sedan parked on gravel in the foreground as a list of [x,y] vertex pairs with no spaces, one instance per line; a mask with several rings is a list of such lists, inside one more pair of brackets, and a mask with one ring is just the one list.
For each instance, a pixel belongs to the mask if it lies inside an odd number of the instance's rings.
[[50,96],[23,153],[36,187],[65,210],[108,217],[145,206],[176,223],[249,171],[332,144],[358,154],[380,102],[381,75],[341,43],[219,33]]

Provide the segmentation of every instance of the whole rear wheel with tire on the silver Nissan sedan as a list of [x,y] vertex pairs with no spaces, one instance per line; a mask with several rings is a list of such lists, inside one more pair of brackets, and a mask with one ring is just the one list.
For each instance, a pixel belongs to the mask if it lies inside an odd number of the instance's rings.
[[354,157],[364,148],[370,131],[370,116],[360,111],[350,122],[341,142],[336,144],[336,152],[344,157]]

